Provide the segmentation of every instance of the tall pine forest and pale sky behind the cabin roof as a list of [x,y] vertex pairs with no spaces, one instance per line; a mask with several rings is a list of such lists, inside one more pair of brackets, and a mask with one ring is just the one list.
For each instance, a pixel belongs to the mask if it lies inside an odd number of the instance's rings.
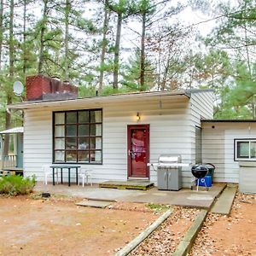
[[214,89],[216,119],[255,119],[255,46],[255,0],[0,0],[0,128],[22,125],[6,105],[34,74],[79,96]]

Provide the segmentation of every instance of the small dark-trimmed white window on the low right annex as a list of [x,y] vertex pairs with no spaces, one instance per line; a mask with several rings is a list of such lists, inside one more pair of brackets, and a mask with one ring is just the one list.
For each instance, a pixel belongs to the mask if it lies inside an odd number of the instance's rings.
[[235,139],[235,160],[256,160],[256,139]]

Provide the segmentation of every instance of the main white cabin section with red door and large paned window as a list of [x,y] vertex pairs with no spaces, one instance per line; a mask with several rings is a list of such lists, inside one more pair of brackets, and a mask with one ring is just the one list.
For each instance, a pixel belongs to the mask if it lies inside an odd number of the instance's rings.
[[[184,163],[201,161],[201,119],[212,119],[212,98],[212,90],[179,90],[38,100],[8,108],[24,110],[25,177],[43,180],[44,164],[73,163],[93,169],[94,183],[132,178],[156,183],[147,163],[160,154],[181,154]],[[182,177],[183,187],[189,187],[189,167]]]

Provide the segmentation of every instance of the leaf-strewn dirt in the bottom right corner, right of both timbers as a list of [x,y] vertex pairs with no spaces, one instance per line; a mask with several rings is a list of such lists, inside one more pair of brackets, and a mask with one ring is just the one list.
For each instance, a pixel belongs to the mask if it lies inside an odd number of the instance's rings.
[[256,255],[256,195],[237,193],[229,217],[209,214],[189,255]]

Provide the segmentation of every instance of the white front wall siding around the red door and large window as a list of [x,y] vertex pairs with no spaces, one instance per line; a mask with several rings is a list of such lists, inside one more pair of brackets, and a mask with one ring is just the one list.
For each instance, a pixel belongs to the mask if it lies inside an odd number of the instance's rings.
[[[83,165],[91,168],[93,182],[127,179],[127,125],[149,124],[150,161],[158,160],[160,154],[182,154],[190,162],[191,127],[189,99],[175,97],[150,102],[123,102],[122,105],[102,104],[73,106],[79,108],[102,108],[103,113],[103,163]],[[43,180],[41,166],[52,162],[52,112],[67,108],[38,108],[25,111],[24,169],[25,176],[36,174]],[[136,121],[140,113],[141,120]],[[156,182],[156,172],[151,170],[150,180]]]

